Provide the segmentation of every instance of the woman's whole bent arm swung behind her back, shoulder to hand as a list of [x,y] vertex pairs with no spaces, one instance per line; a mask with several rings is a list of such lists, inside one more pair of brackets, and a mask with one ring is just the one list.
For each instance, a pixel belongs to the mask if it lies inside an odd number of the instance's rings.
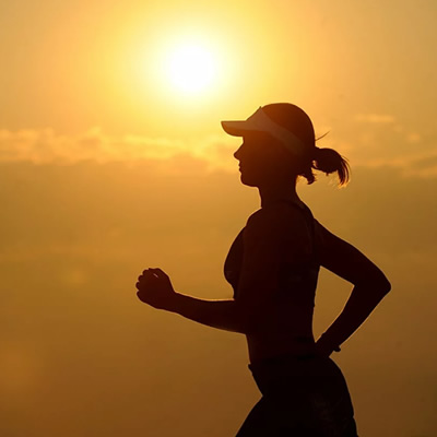
[[358,249],[330,233],[320,223],[316,225],[320,237],[320,264],[354,285],[343,310],[317,341],[318,352],[329,356],[332,351],[340,351],[340,344],[367,319],[389,293],[391,284],[382,271]]

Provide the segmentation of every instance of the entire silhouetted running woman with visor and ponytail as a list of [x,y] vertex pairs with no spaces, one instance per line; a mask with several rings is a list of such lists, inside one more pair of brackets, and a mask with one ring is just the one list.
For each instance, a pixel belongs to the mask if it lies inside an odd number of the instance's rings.
[[[385,274],[359,250],[330,233],[298,198],[299,176],[314,169],[349,180],[347,162],[316,146],[311,120],[292,104],[260,107],[244,121],[222,121],[243,137],[234,153],[241,182],[257,187],[261,209],[234,240],[224,274],[234,299],[176,293],[161,269],[146,269],[138,296],[155,308],[210,327],[244,333],[249,369],[262,393],[237,437],[356,437],[351,397],[330,357],[390,291]],[[354,285],[328,330],[315,341],[312,315],[320,265]]]

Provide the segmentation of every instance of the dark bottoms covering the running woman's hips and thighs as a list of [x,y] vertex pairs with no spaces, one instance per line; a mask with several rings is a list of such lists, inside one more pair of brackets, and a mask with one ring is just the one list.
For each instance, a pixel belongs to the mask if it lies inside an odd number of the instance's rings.
[[236,437],[358,437],[344,376],[330,357],[248,365],[262,393]]

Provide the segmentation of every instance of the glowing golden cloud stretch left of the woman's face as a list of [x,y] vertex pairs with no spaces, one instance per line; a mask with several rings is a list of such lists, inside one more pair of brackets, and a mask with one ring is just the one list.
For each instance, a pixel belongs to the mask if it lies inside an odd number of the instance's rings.
[[138,160],[168,160],[188,155],[205,161],[208,168],[236,169],[232,156],[235,140],[209,135],[193,141],[144,135],[108,135],[95,127],[79,135],[62,135],[52,129],[0,130],[0,162],[27,161],[34,164],[74,164]]

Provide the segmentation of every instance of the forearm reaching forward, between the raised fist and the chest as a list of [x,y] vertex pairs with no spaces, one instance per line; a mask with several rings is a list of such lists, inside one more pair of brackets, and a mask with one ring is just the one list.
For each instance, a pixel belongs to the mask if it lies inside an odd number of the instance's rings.
[[234,299],[205,300],[177,293],[168,310],[211,328],[246,333],[244,318]]

